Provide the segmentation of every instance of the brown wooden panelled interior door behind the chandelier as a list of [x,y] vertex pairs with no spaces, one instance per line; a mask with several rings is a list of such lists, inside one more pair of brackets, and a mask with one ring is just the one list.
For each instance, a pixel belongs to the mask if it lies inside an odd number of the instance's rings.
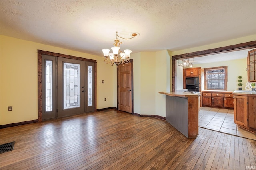
[[133,112],[132,94],[132,60],[130,60],[129,64],[118,66],[118,110]]

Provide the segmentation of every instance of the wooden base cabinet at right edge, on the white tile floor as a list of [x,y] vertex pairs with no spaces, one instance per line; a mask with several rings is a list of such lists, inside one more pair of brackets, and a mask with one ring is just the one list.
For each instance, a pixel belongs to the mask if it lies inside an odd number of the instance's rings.
[[242,94],[236,91],[233,92],[234,122],[239,127],[256,133],[256,94]]

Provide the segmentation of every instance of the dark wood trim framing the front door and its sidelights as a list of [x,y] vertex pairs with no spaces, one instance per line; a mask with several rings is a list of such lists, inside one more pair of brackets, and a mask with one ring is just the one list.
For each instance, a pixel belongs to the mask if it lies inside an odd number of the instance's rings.
[[37,50],[38,53],[38,122],[42,122],[42,55],[51,55],[51,56],[56,56],[56,57],[64,57],[68,59],[75,59],[75,60],[81,60],[81,61],[90,61],[94,62],[94,103],[95,103],[95,109],[94,111],[97,111],[97,61],[93,59],[85,59],[82,57],[76,57],[72,55],[65,55],[65,54],[60,54],[60,53],[54,53],[54,52],[49,52],[49,51],[43,51],[43,50]]

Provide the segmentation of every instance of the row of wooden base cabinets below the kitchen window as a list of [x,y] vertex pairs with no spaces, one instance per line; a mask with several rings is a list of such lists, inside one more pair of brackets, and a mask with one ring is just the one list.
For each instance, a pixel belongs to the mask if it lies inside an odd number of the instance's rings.
[[202,106],[233,108],[234,99],[232,92],[227,91],[202,91]]

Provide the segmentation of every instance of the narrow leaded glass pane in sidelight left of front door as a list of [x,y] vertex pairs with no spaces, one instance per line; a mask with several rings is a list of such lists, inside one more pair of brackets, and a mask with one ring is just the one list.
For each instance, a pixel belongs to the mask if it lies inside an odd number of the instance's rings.
[[45,61],[45,111],[52,111],[52,61]]

